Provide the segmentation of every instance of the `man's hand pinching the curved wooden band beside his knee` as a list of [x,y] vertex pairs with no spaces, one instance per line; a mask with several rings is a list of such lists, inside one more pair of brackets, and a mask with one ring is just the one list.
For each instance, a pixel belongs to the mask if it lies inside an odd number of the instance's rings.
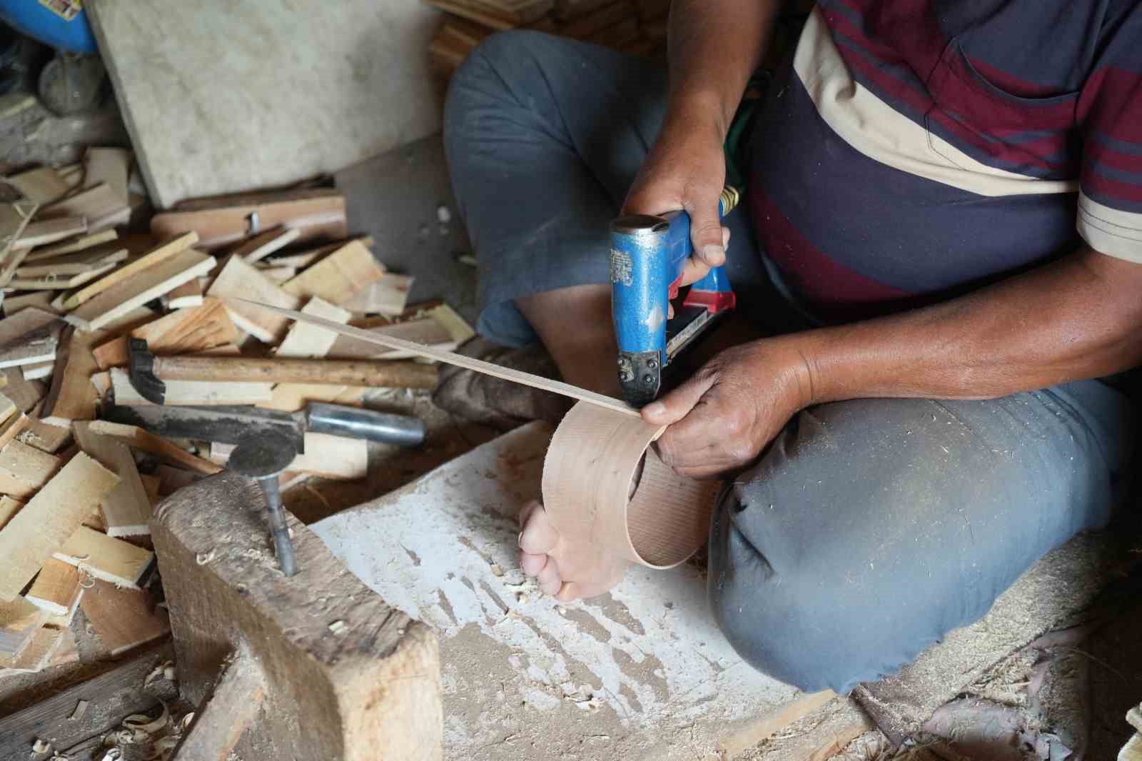
[[810,368],[790,338],[729,349],[644,407],[643,419],[669,426],[657,443],[662,462],[691,478],[717,476],[754,462],[813,401]]

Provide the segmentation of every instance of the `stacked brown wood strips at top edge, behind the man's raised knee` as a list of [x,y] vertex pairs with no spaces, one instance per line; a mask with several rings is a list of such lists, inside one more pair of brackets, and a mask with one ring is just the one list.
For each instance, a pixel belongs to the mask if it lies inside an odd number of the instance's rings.
[[428,46],[433,67],[444,77],[484,38],[530,29],[637,56],[666,49],[670,0],[426,0],[445,11]]

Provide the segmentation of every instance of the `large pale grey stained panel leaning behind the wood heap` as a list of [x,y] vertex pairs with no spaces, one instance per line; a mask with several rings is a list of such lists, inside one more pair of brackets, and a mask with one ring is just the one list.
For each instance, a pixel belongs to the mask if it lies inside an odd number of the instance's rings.
[[288,184],[440,129],[424,55],[439,14],[418,0],[85,9],[159,208]]

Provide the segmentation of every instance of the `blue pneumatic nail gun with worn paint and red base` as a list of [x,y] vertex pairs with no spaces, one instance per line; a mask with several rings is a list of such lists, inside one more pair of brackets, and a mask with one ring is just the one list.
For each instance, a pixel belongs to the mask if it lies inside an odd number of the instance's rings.
[[[738,199],[738,191],[726,187],[719,214],[729,214]],[[619,344],[619,383],[626,401],[636,407],[658,396],[664,369],[735,305],[724,267],[714,267],[690,286],[675,317],[668,319],[692,254],[685,211],[627,215],[611,223],[611,312]]]

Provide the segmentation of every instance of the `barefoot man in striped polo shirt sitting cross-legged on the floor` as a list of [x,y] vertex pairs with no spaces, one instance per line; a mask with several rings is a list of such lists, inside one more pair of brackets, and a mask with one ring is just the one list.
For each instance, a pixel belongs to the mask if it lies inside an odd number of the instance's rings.
[[[732,478],[710,532],[725,635],[777,679],[847,691],[1121,496],[1134,411],[1107,378],[1142,360],[1142,2],[821,0],[764,94],[730,235],[723,141],[778,6],[675,0],[668,83],[497,35],[453,80],[445,139],[481,333],[538,337],[570,383],[617,392],[620,205],[689,211],[690,279],[725,262],[763,331],[806,315],[643,416],[676,471]],[[616,580],[564,578],[560,542],[529,507],[546,592]]]

